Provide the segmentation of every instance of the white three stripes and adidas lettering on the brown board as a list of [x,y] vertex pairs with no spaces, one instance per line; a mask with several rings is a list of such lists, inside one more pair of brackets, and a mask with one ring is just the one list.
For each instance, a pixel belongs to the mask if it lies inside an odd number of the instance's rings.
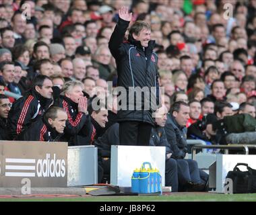
[[65,177],[65,159],[46,153],[46,159],[5,159],[6,177]]

